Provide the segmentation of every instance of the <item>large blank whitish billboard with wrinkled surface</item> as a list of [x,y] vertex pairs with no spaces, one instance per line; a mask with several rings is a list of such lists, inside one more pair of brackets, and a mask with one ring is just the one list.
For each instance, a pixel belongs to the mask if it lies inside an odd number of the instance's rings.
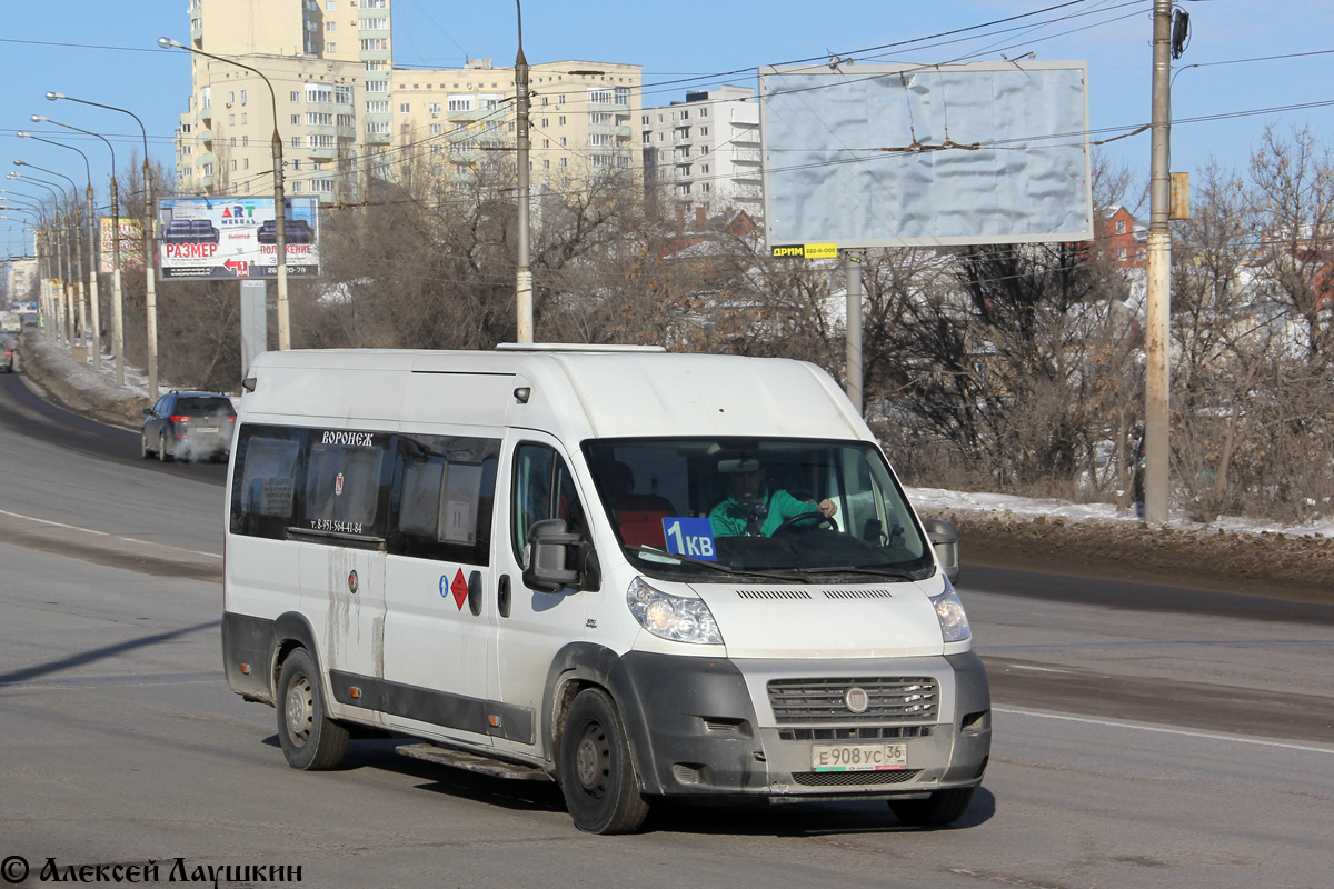
[[1093,237],[1087,65],[759,71],[770,248]]

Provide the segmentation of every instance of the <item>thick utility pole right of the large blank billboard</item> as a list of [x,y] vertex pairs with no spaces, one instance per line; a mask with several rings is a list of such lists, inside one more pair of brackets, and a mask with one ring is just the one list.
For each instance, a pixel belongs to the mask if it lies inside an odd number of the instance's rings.
[[1145,521],[1165,522],[1169,462],[1169,327],[1171,324],[1171,3],[1154,0],[1153,164],[1149,181],[1149,291],[1145,305]]

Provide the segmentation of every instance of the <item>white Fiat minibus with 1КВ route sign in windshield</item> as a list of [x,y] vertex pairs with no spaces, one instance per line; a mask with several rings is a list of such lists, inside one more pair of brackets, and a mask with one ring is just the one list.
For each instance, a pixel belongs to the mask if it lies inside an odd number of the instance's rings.
[[991,745],[923,522],[819,368],[643,347],[268,352],[228,469],[223,656],[287,761],[351,736],[655,800],[958,820]]

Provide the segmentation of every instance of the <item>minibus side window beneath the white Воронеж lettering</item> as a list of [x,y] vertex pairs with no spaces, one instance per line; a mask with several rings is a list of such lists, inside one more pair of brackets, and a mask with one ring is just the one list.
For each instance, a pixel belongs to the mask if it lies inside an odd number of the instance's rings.
[[303,529],[384,537],[390,437],[321,431],[311,436]]

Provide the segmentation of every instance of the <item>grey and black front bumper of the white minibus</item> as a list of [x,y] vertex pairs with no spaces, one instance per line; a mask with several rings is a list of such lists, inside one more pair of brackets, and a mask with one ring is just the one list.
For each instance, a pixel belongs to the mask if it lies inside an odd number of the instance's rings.
[[[630,652],[612,693],[644,793],[706,798],[894,798],[976,786],[991,749],[986,672],[974,652],[875,660],[728,660]],[[775,700],[798,677],[828,698],[867,686],[863,713],[792,714]],[[902,677],[908,677],[903,680]],[[884,704],[882,688],[932,680],[924,710]],[[786,685],[784,685],[786,682]],[[896,684],[896,685],[895,685]],[[916,688],[910,685],[908,688]],[[800,690],[799,690],[800,693]],[[775,697],[778,696],[778,697]],[[852,693],[854,702],[855,692]],[[904,696],[912,697],[912,696]],[[930,697],[927,694],[926,697]],[[892,704],[892,701],[891,701]],[[908,712],[903,712],[908,710]],[[852,748],[856,748],[854,752]],[[884,757],[880,765],[847,758]],[[824,758],[816,765],[816,758]],[[838,756],[832,757],[838,761]]]

